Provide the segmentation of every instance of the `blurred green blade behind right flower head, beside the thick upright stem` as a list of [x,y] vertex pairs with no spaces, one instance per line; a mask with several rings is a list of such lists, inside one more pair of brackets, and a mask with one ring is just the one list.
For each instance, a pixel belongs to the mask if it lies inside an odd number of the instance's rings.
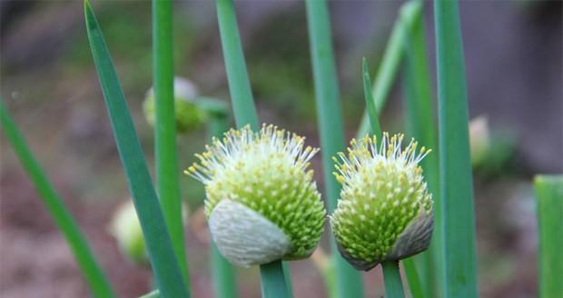
[[[418,142],[432,148],[438,149],[436,139],[436,118],[433,109],[433,94],[431,90],[431,79],[429,62],[426,53],[426,35],[420,11],[422,3],[411,1],[401,9],[401,17],[412,19],[409,35],[405,39],[405,84],[406,99],[409,115],[410,133]],[[436,151],[438,152],[438,151]],[[423,296],[414,297],[436,297],[436,285],[441,284],[440,270],[443,268],[443,236],[442,236],[442,208],[439,194],[438,154],[429,154],[420,163],[424,170],[424,176],[428,183],[430,193],[434,199],[434,232],[428,252],[420,254],[421,279]],[[403,263],[406,264],[406,263]],[[410,271],[405,271],[410,275]],[[413,267],[414,268],[414,267]],[[411,285],[412,288],[412,285]],[[439,286],[440,288],[440,286]]]

